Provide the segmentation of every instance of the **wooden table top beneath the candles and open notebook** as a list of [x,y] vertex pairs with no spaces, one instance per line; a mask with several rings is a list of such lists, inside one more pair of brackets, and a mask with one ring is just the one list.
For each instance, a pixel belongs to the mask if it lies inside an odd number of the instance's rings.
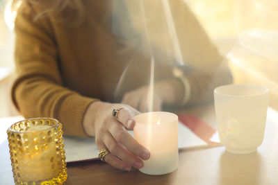
[[[213,106],[195,107],[182,113],[195,114],[215,127]],[[6,128],[0,118],[0,184],[13,184]],[[138,170],[123,172],[101,161],[67,164],[66,184],[278,184],[278,112],[268,109],[265,138],[257,152],[233,155],[224,147],[179,151],[179,168],[168,175],[150,176]]]

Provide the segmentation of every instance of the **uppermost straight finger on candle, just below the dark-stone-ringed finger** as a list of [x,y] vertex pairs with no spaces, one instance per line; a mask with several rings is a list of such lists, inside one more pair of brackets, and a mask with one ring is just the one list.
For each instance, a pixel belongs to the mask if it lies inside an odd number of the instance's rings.
[[119,142],[129,150],[129,152],[133,153],[133,155],[136,155],[141,159],[149,159],[149,151],[133,139],[121,123],[111,125],[111,127],[109,127],[109,132],[111,132],[115,141]]

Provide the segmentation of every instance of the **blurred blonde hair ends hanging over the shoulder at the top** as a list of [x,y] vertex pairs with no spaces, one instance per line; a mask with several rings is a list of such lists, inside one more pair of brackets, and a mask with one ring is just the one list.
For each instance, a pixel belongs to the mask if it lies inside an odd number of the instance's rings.
[[22,1],[27,1],[28,3],[31,3],[32,5],[38,6],[40,8],[41,12],[34,17],[34,21],[49,13],[55,14],[63,12],[63,10],[65,10],[66,8],[70,8],[74,10],[74,12],[76,12],[74,17],[70,17],[71,19],[63,17],[63,20],[58,20],[65,21],[67,26],[78,26],[83,22],[83,19],[85,18],[85,9],[82,0],[13,0],[12,10],[16,11],[19,7],[18,5],[21,4]]

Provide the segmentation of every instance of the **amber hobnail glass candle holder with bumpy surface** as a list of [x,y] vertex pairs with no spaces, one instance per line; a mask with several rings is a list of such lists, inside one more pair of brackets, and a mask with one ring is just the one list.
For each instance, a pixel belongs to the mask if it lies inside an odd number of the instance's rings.
[[63,184],[67,179],[62,124],[29,118],[8,130],[15,184]]

